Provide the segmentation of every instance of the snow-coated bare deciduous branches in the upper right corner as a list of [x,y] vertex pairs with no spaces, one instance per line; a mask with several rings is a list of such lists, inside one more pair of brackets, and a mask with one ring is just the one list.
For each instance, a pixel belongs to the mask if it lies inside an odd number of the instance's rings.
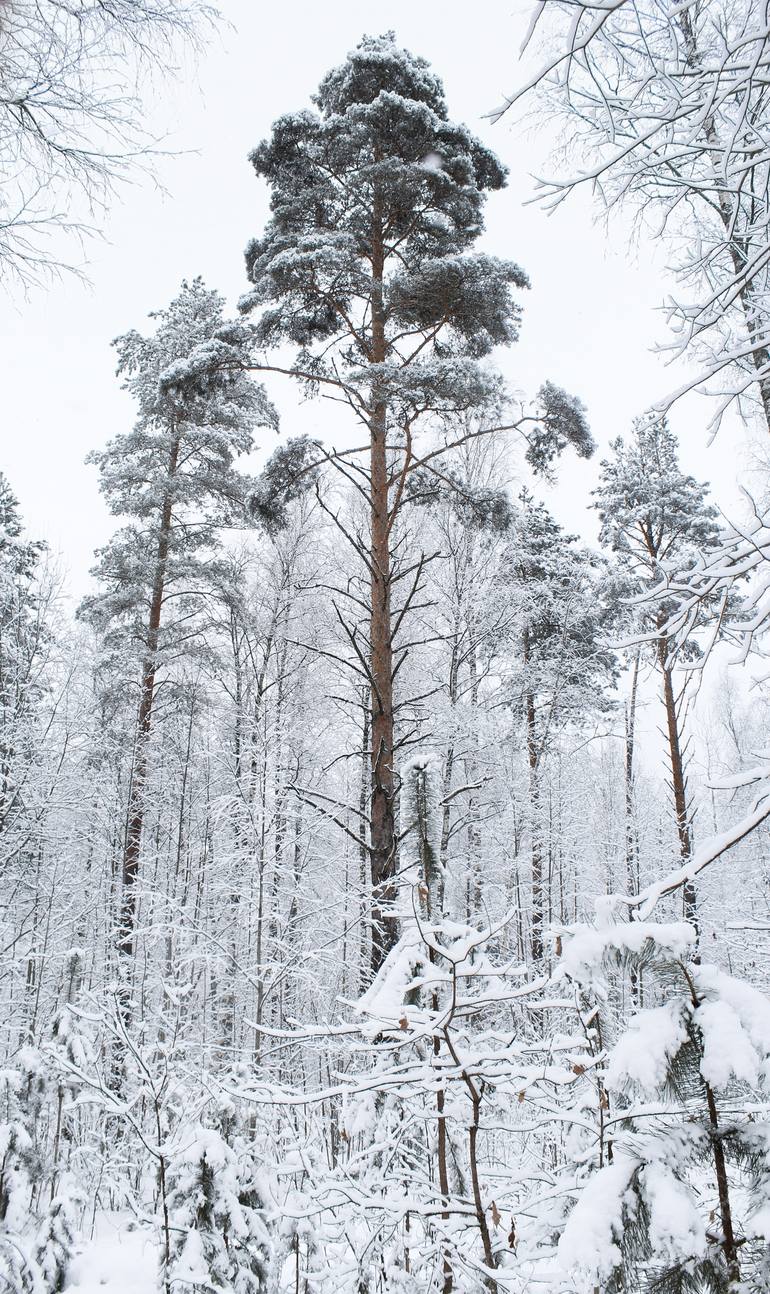
[[589,186],[668,239],[681,292],[670,348],[699,360],[714,424],[758,391],[770,428],[770,30],[758,0],[538,0],[524,49],[538,71],[494,114],[538,96],[566,128],[547,206]]

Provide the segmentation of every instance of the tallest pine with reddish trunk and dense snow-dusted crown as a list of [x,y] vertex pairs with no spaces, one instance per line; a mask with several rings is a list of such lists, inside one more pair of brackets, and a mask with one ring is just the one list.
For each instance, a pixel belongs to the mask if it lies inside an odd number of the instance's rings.
[[[325,457],[353,480],[369,516],[357,543],[369,585],[366,641],[358,647],[358,633],[349,637],[371,696],[377,967],[396,937],[388,915],[397,845],[393,679],[402,661],[397,628],[414,597],[401,594],[393,568],[399,511],[410,472],[436,472],[448,448],[418,448],[423,424],[468,410],[488,411],[485,430],[511,423],[500,378],[481,361],[515,340],[512,291],[527,277],[512,261],[472,251],[485,195],[503,186],[505,168],[449,119],[439,78],[392,32],[365,38],[324,78],[313,102],[314,110],[281,118],[252,154],[270,186],[272,216],[247,250],[254,286],[242,305],[259,314],[258,348],[298,348],[289,366],[268,355],[255,367],[339,400],[364,430],[362,446]],[[537,414],[522,422],[541,468],[567,443],[590,452],[581,406],[550,384]]]

